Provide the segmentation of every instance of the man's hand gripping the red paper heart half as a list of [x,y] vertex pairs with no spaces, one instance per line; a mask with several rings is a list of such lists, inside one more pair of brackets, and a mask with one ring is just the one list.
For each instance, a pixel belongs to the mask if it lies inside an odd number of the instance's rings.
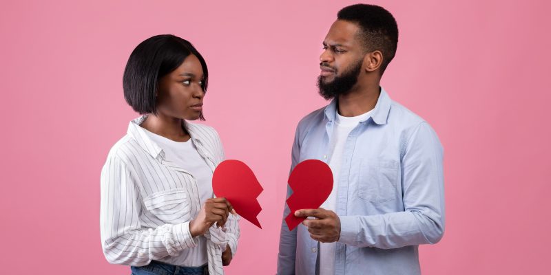
[[310,232],[310,237],[322,243],[334,243],[340,237],[340,219],[331,210],[323,208],[301,209],[295,211],[296,217],[314,217],[302,221]]

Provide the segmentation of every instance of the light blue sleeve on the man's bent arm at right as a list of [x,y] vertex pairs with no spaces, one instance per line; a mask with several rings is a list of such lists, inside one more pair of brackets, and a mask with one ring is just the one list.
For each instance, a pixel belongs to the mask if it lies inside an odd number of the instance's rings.
[[438,137],[422,122],[404,146],[404,211],[340,217],[341,243],[390,249],[437,243],[444,235],[444,153]]

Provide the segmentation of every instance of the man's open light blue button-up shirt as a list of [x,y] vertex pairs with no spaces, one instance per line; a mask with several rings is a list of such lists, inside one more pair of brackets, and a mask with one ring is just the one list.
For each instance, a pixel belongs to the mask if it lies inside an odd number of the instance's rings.
[[[293,142],[291,170],[331,158],[337,100],[306,115]],[[335,274],[421,274],[418,245],[444,234],[443,149],[430,125],[381,93],[349,134],[337,184],[341,232]],[[287,197],[293,191],[287,187]],[[283,218],[289,214],[285,205]],[[300,224],[281,226],[278,274],[317,274],[318,241]],[[318,267],[317,267],[318,265]]]

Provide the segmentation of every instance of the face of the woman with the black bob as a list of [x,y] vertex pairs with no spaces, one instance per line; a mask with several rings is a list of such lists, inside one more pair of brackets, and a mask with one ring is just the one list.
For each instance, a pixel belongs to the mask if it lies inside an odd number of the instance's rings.
[[157,111],[183,120],[196,120],[202,111],[202,67],[190,54],[180,67],[159,80]]

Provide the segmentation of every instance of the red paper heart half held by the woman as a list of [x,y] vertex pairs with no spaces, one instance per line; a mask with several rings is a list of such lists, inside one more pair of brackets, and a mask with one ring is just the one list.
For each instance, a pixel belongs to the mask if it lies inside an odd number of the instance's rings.
[[256,198],[263,189],[247,164],[235,159],[218,164],[212,175],[212,190],[216,197],[225,197],[241,217],[262,228],[256,218],[262,207]]

